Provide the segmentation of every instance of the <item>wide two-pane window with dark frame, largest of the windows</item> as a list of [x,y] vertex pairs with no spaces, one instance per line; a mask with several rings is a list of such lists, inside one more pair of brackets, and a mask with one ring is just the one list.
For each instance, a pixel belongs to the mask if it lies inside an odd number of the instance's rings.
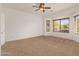
[[69,33],[69,18],[53,20],[53,31]]

